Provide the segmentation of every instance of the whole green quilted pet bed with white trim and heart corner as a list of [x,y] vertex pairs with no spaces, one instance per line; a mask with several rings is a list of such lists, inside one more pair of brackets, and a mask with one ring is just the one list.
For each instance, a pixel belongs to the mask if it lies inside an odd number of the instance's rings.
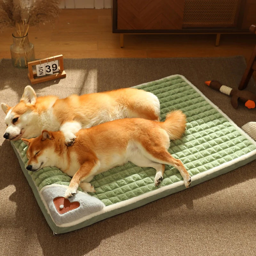
[[[192,186],[256,159],[255,141],[184,76],[173,75],[135,87],[158,97],[161,120],[173,109],[186,114],[186,132],[180,140],[171,141],[169,152],[182,161],[192,177]],[[52,167],[27,171],[27,146],[19,140],[12,147],[54,233],[91,225],[186,189],[179,171],[172,166],[166,165],[164,179],[155,187],[155,169],[127,163],[95,176],[91,182],[95,193],[87,194],[79,188],[75,196],[64,200],[71,178]]]

